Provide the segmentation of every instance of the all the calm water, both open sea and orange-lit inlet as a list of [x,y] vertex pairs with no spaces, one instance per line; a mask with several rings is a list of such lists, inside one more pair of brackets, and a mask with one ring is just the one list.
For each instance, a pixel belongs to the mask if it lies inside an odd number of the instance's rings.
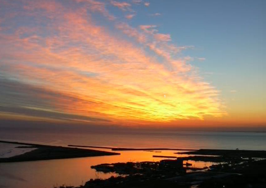
[[[192,131],[131,131],[94,133],[12,133],[1,132],[0,140],[16,140],[65,146],[67,144],[129,148],[174,149],[253,149],[266,150],[266,133],[192,132]],[[0,147],[0,154],[7,151]],[[2,151],[1,151],[2,148]],[[109,151],[108,149],[102,149]],[[152,155],[177,156],[174,150],[161,153],[123,151],[121,155],[57,159],[32,162],[0,163],[0,188],[52,188],[56,185],[81,185],[91,178],[108,178],[115,174],[98,173],[91,165],[128,161],[159,161]],[[185,156],[185,155],[184,155]],[[191,163],[192,161],[190,161]],[[192,162],[197,167],[211,163]]]

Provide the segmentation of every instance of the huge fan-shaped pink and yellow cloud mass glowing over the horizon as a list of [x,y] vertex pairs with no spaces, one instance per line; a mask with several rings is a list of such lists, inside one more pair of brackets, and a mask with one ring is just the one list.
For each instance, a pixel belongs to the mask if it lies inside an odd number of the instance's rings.
[[[102,2],[51,2],[1,7],[15,13],[0,24],[0,76],[5,80],[0,87],[6,88],[0,106],[9,113],[22,114],[22,108],[36,117],[114,124],[226,114],[219,91],[186,59],[174,57],[187,47],[171,44],[170,34],[160,34],[155,25],[134,28],[117,21]],[[101,13],[108,24],[98,25],[93,13]],[[24,21],[18,24],[17,18]]]

